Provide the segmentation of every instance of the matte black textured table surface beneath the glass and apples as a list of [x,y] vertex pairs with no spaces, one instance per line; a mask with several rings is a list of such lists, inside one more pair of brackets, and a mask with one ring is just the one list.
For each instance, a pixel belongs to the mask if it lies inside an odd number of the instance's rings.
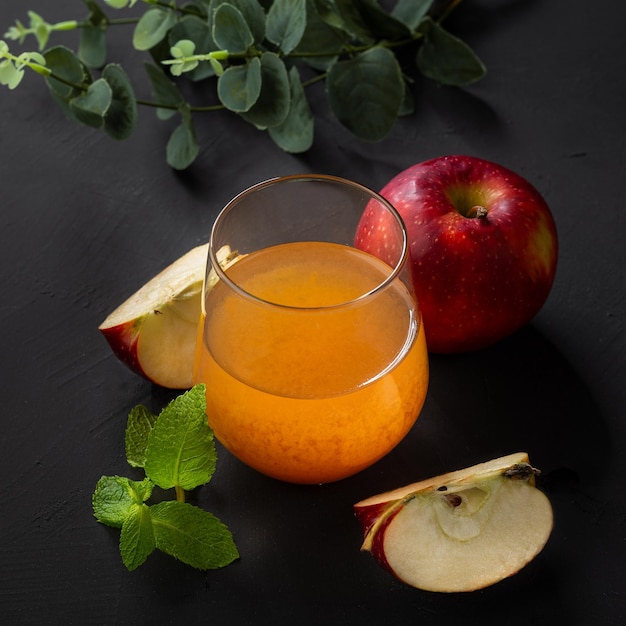
[[[132,138],[116,142],[67,121],[33,73],[14,92],[0,88],[0,621],[626,623],[620,7],[468,0],[448,25],[481,56],[487,77],[464,89],[418,81],[415,115],[383,142],[340,128],[318,86],[308,153],[283,153],[220,112],[197,121],[202,150],[185,172],[166,165],[172,127],[152,110],[140,111]],[[86,13],[79,0],[3,0],[2,32],[26,22],[27,9],[51,22]],[[76,35],[53,42],[75,46]],[[149,95],[129,30],[113,35],[109,58]],[[158,412],[176,394],[125,368],[98,324],[206,241],[218,210],[255,182],[321,172],[379,189],[413,163],[453,153],[518,171],[550,204],[560,259],[540,313],[493,348],[433,356],[416,426],[355,477],[283,484],[219,448],[198,498],[231,528],[241,558],[200,572],[155,553],[128,572],[119,532],[95,521],[91,495],[101,475],[129,475],[129,410]],[[354,502],[517,450],[543,470],[555,526],[516,576],[472,593],[428,593],[360,551]]]

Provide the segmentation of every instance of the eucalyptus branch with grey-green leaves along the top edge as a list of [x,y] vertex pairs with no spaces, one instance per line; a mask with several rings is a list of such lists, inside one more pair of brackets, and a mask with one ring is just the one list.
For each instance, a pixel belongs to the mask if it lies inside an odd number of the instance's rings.
[[[115,139],[132,135],[138,106],[155,109],[161,120],[176,116],[166,150],[176,169],[190,166],[199,153],[196,113],[228,110],[266,131],[282,150],[301,153],[314,140],[306,95],[311,85],[326,83],[338,123],[359,139],[380,141],[400,116],[413,112],[410,85],[418,74],[465,86],[486,71],[443,26],[461,0],[399,0],[391,11],[375,0],[195,0],[184,6],[141,0],[140,17],[119,19],[99,3],[119,10],[140,0],[82,1],[89,14],[81,20],[51,24],[29,11],[28,26],[17,21],[8,29],[5,37],[19,44],[35,37],[39,52],[14,55],[0,42],[0,84],[15,89],[31,69],[70,119]],[[133,25],[133,47],[149,53],[152,99],[137,97],[122,65],[107,64],[108,29],[119,25]],[[76,51],[45,49],[51,36],[73,30],[80,38]],[[413,50],[412,68],[401,50]],[[219,103],[187,102],[183,80],[212,81]]]

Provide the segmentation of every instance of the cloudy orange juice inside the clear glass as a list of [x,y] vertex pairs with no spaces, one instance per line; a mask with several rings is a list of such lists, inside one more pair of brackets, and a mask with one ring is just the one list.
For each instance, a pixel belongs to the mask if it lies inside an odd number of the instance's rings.
[[376,290],[390,272],[319,242],[280,244],[228,268],[239,289],[219,281],[208,292],[195,372],[226,448],[269,476],[323,483],[404,438],[424,402],[428,359],[404,284]]

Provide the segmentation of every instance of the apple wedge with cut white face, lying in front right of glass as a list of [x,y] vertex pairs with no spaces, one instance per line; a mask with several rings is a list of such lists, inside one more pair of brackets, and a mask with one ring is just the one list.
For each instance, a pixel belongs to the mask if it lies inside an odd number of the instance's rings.
[[546,544],[552,506],[524,452],[354,505],[362,550],[427,591],[473,591],[517,573]]

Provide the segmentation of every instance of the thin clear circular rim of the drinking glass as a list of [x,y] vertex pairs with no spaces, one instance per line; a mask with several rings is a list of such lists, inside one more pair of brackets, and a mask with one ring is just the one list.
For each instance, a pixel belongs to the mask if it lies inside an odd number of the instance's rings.
[[[245,289],[243,289],[241,286],[239,286],[234,280],[232,280],[228,276],[228,274],[226,273],[226,271],[224,270],[224,268],[222,267],[222,265],[217,259],[217,250],[219,249],[220,246],[216,246],[214,243],[216,229],[220,221],[224,218],[224,216],[226,216],[228,213],[230,213],[230,211],[232,211],[235,208],[235,206],[239,203],[241,198],[243,198],[244,196],[250,195],[254,193],[255,191],[264,189],[266,187],[271,187],[279,183],[288,183],[288,182],[297,182],[297,181],[309,181],[309,182],[325,181],[325,182],[343,185],[346,187],[352,187],[353,189],[357,189],[359,191],[364,192],[365,194],[370,196],[371,200],[376,200],[381,205],[383,205],[385,209],[387,209],[390,212],[390,214],[393,216],[396,223],[398,224],[400,228],[400,232],[402,233],[402,251],[395,265],[388,266],[391,268],[391,272],[389,273],[388,276],[385,277],[384,280],[380,281],[375,287],[373,287],[369,291],[366,291],[360,294],[356,298],[352,298],[344,302],[338,302],[336,304],[312,307],[312,306],[295,306],[295,305],[290,305],[290,304],[281,304],[280,302],[272,302],[271,300],[260,298],[259,296],[256,296],[253,293],[250,293],[249,291],[246,291]],[[365,206],[367,206],[367,204]],[[337,244],[337,245],[342,245],[342,244]],[[355,248],[354,246],[350,246],[350,247],[354,248],[355,250],[358,250],[358,248]],[[258,302],[259,304],[277,307],[281,309],[291,309],[293,311],[326,311],[326,310],[353,306],[353,305],[363,302],[364,300],[368,300],[375,294],[386,289],[389,285],[391,285],[391,283],[393,283],[396,280],[396,278],[400,276],[402,270],[404,269],[406,263],[408,262],[408,255],[409,255],[409,241],[408,241],[408,233],[407,233],[406,225],[400,213],[398,213],[398,210],[391,204],[391,202],[389,202],[386,198],[381,196],[378,192],[370,189],[369,187],[366,187],[365,185],[362,185],[361,183],[357,183],[356,181],[353,181],[347,178],[342,178],[341,176],[333,176],[330,174],[290,174],[286,176],[275,176],[274,178],[268,178],[267,180],[263,180],[261,182],[255,183],[254,185],[251,185],[250,187],[244,189],[243,191],[240,191],[236,196],[234,196],[231,200],[229,200],[226,203],[226,205],[217,214],[217,217],[215,218],[215,221],[213,222],[213,226],[211,227],[208,248],[209,248],[208,259],[209,259],[210,266],[207,268],[207,272],[212,268],[217,274],[217,277],[219,278],[219,280],[223,281],[225,285],[227,285],[230,289],[232,289],[233,291],[235,291],[236,293],[238,293],[239,295],[243,296],[246,299],[252,300],[254,302]],[[369,253],[366,253],[366,254],[369,254]],[[385,263],[385,261],[382,261],[382,259],[381,259],[381,262]],[[204,301],[204,298],[203,298],[203,301]]]

